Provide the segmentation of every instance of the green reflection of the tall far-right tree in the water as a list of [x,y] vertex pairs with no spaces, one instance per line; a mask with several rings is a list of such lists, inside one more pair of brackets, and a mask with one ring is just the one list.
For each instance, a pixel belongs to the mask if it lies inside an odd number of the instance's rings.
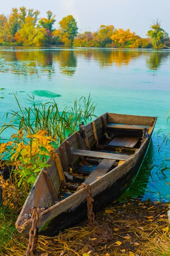
[[161,64],[168,59],[170,52],[168,51],[151,51],[147,58],[147,67],[150,70],[158,70]]

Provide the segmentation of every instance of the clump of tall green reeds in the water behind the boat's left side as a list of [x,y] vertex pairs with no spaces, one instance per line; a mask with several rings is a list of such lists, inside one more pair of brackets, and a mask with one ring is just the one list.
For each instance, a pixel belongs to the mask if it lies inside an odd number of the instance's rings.
[[[34,134],[37,131],[45,130],[48,136],[62,143],[68,136],[73,134],[80,122],[88,122],[88,119],[96,117],[94,111],[96,105],[92,102],[91,95],[88,98],[81,97],[74,100],[73,107],[65,107],[59,111],[55,100],[44,104],[36,103],[35,96],[28,96],[32,103],[30,108],[21,108],[21,105],[14,94],[19,111],[9,111],[6,114],[6,122],[0,127],[0,134],[7,128],[23,130],[26,134]],[[7,123],[7,120],[10,121]]]

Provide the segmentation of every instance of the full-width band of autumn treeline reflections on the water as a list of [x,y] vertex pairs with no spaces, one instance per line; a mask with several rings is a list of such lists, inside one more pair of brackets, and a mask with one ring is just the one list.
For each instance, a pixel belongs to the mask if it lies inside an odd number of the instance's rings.
[[[57,72],[74,76],[78,61],[94,61],[100,68],[123,67],[142,58],[149,70],[158,70],[168,60],[170,51],[122,49],[24,49],[0,48],[0,72],[52,78]],[[59,67],[59,68],[58,68]],[[59,71],[58,71],[59,70]]]

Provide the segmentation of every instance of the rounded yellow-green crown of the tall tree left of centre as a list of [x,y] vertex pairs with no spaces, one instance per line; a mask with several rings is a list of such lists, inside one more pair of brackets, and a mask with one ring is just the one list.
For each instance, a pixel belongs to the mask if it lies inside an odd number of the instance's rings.
[[66,35],[68,41],[71,40],[72,42],[77,36],[77,22],[72,15],[63,17],[62,20],[59,21],[59,27],[62,37],[65,37]]

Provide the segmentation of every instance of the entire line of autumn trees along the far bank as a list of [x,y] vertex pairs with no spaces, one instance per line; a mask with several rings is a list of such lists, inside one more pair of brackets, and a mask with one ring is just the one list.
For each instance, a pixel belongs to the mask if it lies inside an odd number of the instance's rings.
[[72,15],[59,21],[54,28],[55,16],[47,11],[47,17],[39,18],[34,9],[12,8],[9,17],[0,15],[0,45],[116,48],[163,48],[170,47],[170,38],[161,28],[159,20],[153,21],[147,38],[141,38],[130,29],[116,29],[113,25],[101,25],[97,32],[78,33],[77,22]]

